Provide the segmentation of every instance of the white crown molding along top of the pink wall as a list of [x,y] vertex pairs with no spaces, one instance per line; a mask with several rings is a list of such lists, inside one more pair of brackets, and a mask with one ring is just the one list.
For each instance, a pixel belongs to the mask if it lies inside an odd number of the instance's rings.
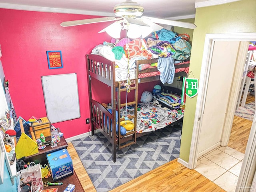
[[76,9],[39,7],[39,6],[29,6],[29,5],[20,5],[20,4],[10,4],[10,3],[0,3],[0,8],[26,10],[26,11],[95,15],[95,16],[115,16],[114,13],[108,13],[108,12],[95,12],[95,11],[85,11],[85,10],[76,10]]

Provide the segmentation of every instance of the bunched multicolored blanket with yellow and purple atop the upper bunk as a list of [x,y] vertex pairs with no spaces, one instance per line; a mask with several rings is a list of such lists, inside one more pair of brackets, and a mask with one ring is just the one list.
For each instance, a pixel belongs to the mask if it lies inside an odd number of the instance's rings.
[[168,41],[161,41],[155,46],[151,46],[150,48],[148,48],[148,50],[163,58],[170,57],[176,52],[176,50]]

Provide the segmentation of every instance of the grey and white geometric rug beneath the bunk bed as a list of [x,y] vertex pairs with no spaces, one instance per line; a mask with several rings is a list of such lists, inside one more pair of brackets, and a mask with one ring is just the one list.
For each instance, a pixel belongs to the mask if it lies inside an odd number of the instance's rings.
[[137,138],[136,144],[117,150],[100,133],[73,140],[72,144],[97,192],[108,192],[179,157],[181,127],[162,128]]

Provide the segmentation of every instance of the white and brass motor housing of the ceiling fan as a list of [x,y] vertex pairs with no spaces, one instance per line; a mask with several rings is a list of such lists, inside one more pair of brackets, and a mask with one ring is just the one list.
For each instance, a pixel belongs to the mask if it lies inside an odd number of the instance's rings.
[[142,5],[133,1],[126,1],[114,6],[114,14],[116,16],[142,16],[144,8]]

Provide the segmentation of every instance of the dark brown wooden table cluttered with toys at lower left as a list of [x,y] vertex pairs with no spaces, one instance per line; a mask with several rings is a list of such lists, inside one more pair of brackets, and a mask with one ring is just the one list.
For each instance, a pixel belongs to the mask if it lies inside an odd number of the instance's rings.
[[[51,137],[47,137],[46,141],[51,140]],[[63,148],[67,148],[68,143],[66,142],[64,137],[60,138],[60,142],[57,144],[57,146],[52,147],[52,146],[46,146],[44,149],[40,149],[39,153],[28,156],[25,158],[25,163],[28,162],[35,162],[36,164],[40,163],[42,165],[48,164],[46,154],[50,152],[54,152],[56,150],[60,150]],[[68,184],[74,184],[76,186],[75,192],[84,192],[83,187],[78,179],[78,176],[76,175],[75,170],[73,170],[74,174],[71,176],[68,176],[62,180],[58,180],[57,182],[62,182],[63,185],[56,185],[56,186],[49,186],[49,187],[44,187],[44,189],[50,189],[50,188],[58,188],[58,192],[63,192],[65,188],[68,186]],[[43,178],[43,182],[53,182],[52,176],[48,177],[47,179]]]

